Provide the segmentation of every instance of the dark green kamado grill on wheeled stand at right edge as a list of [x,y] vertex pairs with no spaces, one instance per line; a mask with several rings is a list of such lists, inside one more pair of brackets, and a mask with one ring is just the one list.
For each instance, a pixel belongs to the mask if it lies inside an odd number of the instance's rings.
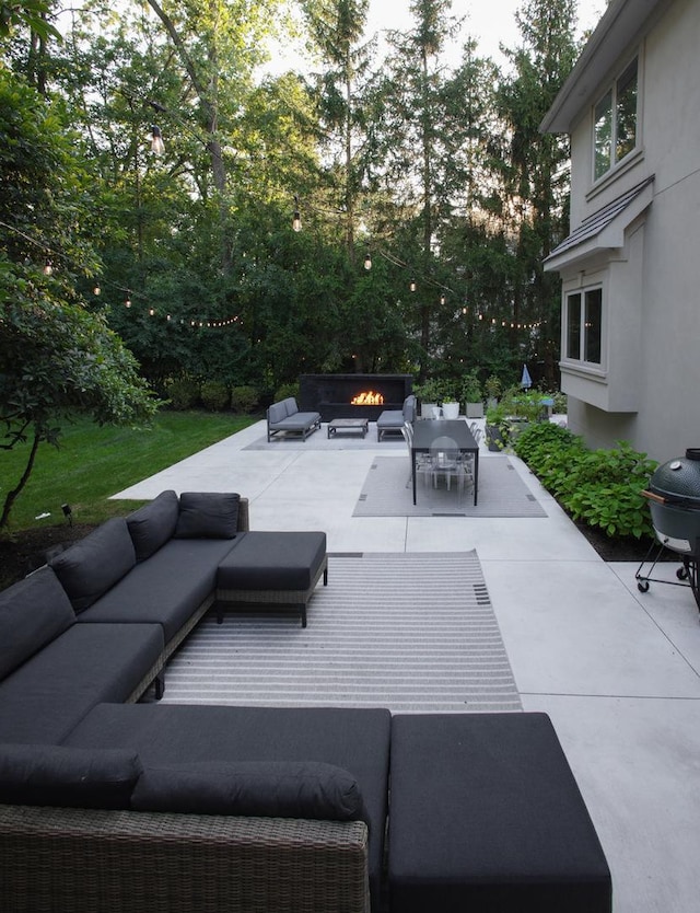
[[[660,543],[650,573],[653,571],[664,548],[678,554],[681,566],[676,571],[676,577],[685,582],[676,586],[690,586],[700,610],[700,448],[688,448],[685,459],[669,460],[658,466],[649,482],[649,488],[642,492],[642,495],[649,499],[652,524]],[[642,575],[642,567],[649,560],[653,547],[637,570],[637,586],[641,592],[646,592],[649,581],[654,579],[649,575]]]

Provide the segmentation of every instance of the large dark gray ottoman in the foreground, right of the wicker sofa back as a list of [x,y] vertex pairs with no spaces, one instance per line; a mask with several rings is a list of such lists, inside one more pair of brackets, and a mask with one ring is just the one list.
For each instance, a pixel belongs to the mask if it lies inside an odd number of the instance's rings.
[[392,721],[392,913],[609,913],[610,871],[546,714]]

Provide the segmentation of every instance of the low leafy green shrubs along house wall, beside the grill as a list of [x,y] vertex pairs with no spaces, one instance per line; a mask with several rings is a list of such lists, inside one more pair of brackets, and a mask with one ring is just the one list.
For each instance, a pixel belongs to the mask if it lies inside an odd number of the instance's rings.
[[588,450],[567,428],[541,423],[526,428],[515,452],[574,520],[609,536],[653,538],[641,495],[656,463],[626,441],[612,450]]

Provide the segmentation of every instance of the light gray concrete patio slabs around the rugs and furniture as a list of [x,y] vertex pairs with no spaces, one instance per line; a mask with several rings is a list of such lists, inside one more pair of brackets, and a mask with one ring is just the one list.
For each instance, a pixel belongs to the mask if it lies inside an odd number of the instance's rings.
[[[700,615],[689,589],[606,564],[515,457],[547,518],[353,518],[402,442],[265,441],[259,423],[115,497],[238,492],[258,530],[325,530],[329,552],[476,548],[526,710],[549,714],[606,852],[616,913],[700,910]],[[494,458],[483,450],[481,459]],[[675,580],[677,565],[654,576]],[[313,601],[311,604],[313,613]],[[565,913],[565,911],[562,911]]]

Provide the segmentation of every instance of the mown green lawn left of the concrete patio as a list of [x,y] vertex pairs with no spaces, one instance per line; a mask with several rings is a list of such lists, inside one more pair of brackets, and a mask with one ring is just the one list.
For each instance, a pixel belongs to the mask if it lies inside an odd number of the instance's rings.
[[[122,516],[141,501],[109,501],[112,495],[246,428],[257,417],[225,413],[162,412],[150,428],[122,428],[80,420],[66,424],[59,448],[43,443],[27,485],[14,502],[9,531],[63,523],[70,504],[77,523]],[[30,446],[0,451],[0,499],[24,471]],[[39,513],[50,513],[37,520]]]

